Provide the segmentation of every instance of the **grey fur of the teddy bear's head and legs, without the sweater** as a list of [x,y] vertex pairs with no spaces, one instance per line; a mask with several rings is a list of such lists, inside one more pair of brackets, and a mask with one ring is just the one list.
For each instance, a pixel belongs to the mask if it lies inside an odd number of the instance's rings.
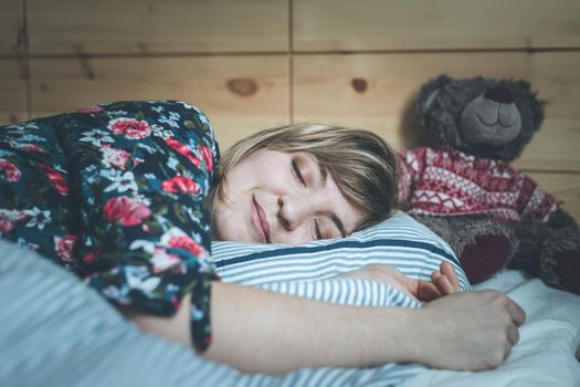
[[[467,107],[470,112],[465,112]],[[493,122],[494,114],[497,114],[498,121],[492,124],[497,124],[497,128],[509,126],[512,132],[493,135],[476,133],[491,126],[485,119],[483,125],[477,121],[487,115]],[[525,81],[482,76],[453,80],[443,74],[421,87],[416,115],[423,129],[435,142],[434,147],[456,148],[476,157],[512,161],[519,157],[540,128],[544,102],[537,98]],[[517,119],[519,127],[515,125]],[[415,219],[446,240],[460,261],[465,247],[475,243],[478,237],[505,236],[512,243],[512,252],[506,258],[510,268],[526,270],[556,287],[572,283],[568,285],[570,289],[565,289],[580,293],[580,228],[562,209],[552,213],[548,221],[523,219],[516,223],[492,216],[415,216]],[[558,270],[559,261],[565,258],[566,266],[571,268],[571,272]],[[566,275],[568,278],[562,280]]]

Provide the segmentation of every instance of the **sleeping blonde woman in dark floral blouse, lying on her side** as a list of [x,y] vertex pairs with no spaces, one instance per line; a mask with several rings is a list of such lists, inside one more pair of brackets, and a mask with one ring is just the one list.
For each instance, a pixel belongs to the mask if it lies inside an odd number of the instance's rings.
[[[214,240],[342,238],[397,209],[397,157],[370,132],[291,125],[220,160],[207,117],[181,102],[119,102],[0,128],[0,232],[36,250],[145,331],[244,372],[414,362],[485,369],[524,312],[494,291],[359,270],[429,301],[342,306],[220,282]],[[404,338],[404,339],[402,339]],[[444,348],[444,351],[442,351]]]

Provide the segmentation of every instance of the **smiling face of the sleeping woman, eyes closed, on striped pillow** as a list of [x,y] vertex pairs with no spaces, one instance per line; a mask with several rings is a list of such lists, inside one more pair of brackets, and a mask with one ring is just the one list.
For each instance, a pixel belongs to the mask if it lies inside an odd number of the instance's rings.
[[233,167],[215,196],[213,238],[299,244],[351,233],[362,211],[307,153],[261,149]]

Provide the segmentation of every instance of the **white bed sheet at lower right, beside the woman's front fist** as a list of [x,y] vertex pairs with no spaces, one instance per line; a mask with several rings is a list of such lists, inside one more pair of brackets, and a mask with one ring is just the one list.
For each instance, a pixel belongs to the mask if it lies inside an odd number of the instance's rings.
[[402,386],[580,386],[580,296],[509,270],[474,287],[503,291],[526,311],[520,341],[512,356],[494,370],[430,369]]

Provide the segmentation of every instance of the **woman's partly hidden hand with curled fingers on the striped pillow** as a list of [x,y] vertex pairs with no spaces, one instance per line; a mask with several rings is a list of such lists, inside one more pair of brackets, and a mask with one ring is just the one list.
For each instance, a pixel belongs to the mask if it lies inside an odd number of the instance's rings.
[[337,275],[381,282],[407,293],[416,301],[432,301],[460,291],[460,280],[450,262],[441,263],[440,271],[431,273],[431,282],[413,280],[388,264],[371,264]]

